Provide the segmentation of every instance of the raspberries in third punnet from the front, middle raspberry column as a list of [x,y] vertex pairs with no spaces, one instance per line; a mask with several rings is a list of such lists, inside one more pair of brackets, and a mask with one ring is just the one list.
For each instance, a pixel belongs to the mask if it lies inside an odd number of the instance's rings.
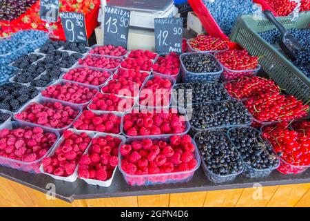
[[129,111],[134,106],[134,99],[131,97],[118,97],[114,94],[97,93],[88,106],[94,111]]

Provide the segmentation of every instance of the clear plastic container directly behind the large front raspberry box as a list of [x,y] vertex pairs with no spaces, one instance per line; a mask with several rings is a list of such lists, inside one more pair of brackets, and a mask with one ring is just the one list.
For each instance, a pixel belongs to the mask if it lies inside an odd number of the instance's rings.
[[[181,108],[181,107],[176,107],[176,106],[171,106],[169,108],[133,108],[132,111],[130,112],[127,112],[125,113],[125,115],[128,115],[128,114],[131,114],[131,113],[143,113],[144,111],[147,113],[149,111],[151,111],[152,113],[161,113],[161,111],[163,110],[166,110],[166,111],[169,111],[170,112],[170,109],[171,108],[175,108],[176,110],[178,110],[178,112],[180,113],[181,116],[185,116],[185,131],[183,133],[176,133],[176,134],[161,134],[161,135],[147,135],[148,138],[158,138],[158,137],[166,137],[166,136],[170,136],[170,135],[185,135],[188,133],[188,131],[190,130],[191,126],[189,124],[189,120],[188,120],[188,117],[187,117],[187,111],[185,111],[184,108]],[[124,115],[124,117],[125,117]],[[123,117],[123,118],[124,118]],[[125,137],[127,138],[141,138],[141,137],[145,137],[145,136],[141,136],[141,135],[138,135],[138,136],[129,136],[125,133],[124,131],[124,128],[123,128],[123,125],[122,125],[122,135],[125,135]]]

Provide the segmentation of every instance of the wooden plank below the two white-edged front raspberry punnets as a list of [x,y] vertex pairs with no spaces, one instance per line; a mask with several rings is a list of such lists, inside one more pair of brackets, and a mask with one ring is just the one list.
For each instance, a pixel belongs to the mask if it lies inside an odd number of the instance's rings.
[[103,198],[85,200],[88,207],[137,207],[138,200],[136,196],[123,197],[123,198]]

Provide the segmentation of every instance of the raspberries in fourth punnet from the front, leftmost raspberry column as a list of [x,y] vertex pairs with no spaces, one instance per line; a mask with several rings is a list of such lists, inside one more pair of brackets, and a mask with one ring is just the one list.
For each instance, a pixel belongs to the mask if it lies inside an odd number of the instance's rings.
[[105,83],[111,77],[107,70],[97,70],[95,68],[79,67],[68,71],[63,75],[63,79],[76,81],[83,84],[99,86]]

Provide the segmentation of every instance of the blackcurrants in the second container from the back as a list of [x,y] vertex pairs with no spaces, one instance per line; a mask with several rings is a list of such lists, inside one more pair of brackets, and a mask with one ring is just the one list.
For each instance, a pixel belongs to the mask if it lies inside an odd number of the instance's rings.
[[223,85],[213,82],[176,84],[173,93],[175,102],[177,102],[175,105],[184,107],[230,99]]

